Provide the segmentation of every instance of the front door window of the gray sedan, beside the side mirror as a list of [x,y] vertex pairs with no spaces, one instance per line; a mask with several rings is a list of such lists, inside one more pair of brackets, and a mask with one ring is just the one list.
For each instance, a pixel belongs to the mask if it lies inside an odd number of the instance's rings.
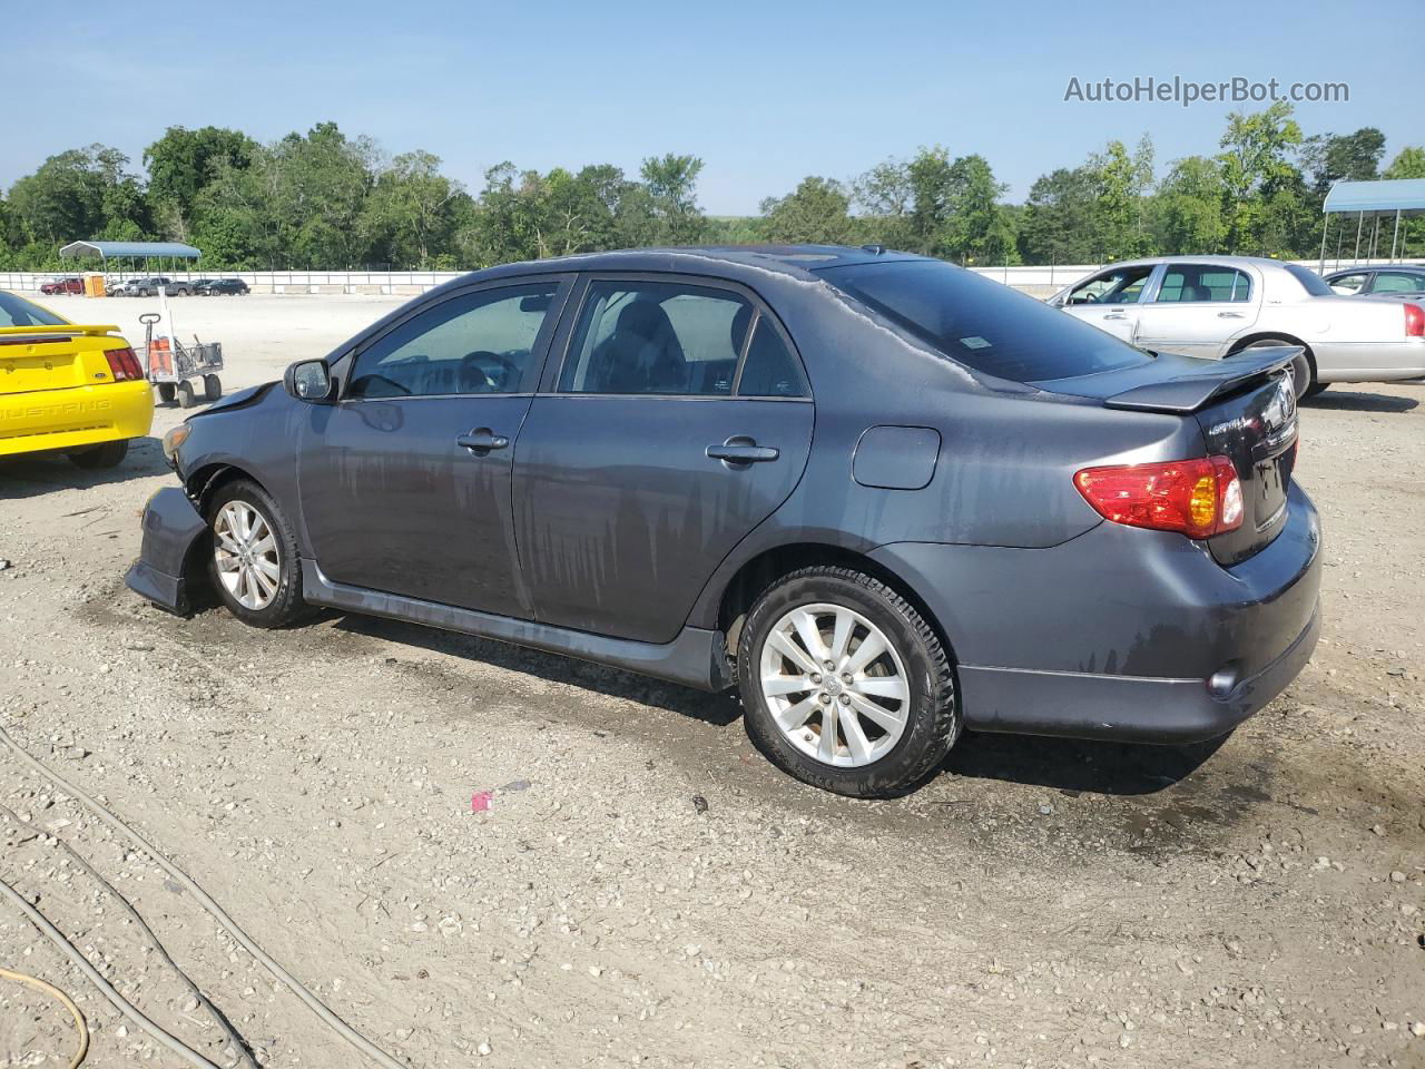
[[346,398],[519,392],[557,289],[480,289],[428,308],[356,356]]

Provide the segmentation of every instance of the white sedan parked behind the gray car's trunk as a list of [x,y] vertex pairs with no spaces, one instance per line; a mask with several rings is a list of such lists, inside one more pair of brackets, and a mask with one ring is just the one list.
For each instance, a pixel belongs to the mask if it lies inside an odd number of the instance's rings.
[[1421,305],[1340,296],[1314,271],[1255,257],[1161,257],[1114,264],[1049,304],[1154,352],[1221,359],[1300,345],[1297,392],[1332,382],[1425,375]]

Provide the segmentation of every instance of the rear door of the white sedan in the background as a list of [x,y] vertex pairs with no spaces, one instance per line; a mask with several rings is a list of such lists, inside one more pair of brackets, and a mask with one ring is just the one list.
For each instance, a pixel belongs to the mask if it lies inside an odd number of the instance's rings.
[[1139,308],[1136,345],[1184,356],[1223,356],[1261,308],[1260,279],[1244,268],[1208,262],[1167,264]]

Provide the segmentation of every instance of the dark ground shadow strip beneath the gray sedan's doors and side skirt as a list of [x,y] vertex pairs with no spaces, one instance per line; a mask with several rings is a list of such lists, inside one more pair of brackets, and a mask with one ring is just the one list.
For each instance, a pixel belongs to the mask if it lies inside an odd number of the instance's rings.
[[523,646],[477,639],[459,631],[443,631],[435,627],[383,620],[375,616],[333,613],[335,626],[343,631],[363,634],[385,641],[415,646],[422,650],[442,653],[472,661],[483,661],[497,668],[536,676],[546,683],[593,690],[608,697],[636,701],[668,713],[701,720],[717,727],[727,727],[742,716],[732,691],[708,694],[677,683],[664,683],[647,676],[638,676],[606,664],[594,664],[556,653],[530,650]]

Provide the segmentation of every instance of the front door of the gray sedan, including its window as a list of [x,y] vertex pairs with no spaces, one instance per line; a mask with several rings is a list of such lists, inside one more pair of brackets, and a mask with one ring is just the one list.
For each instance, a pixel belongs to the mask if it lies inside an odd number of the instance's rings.
[[569,277],[418,306],[336,363],[304,410],[299,487],[328,579],[530,619],[510,472]]

